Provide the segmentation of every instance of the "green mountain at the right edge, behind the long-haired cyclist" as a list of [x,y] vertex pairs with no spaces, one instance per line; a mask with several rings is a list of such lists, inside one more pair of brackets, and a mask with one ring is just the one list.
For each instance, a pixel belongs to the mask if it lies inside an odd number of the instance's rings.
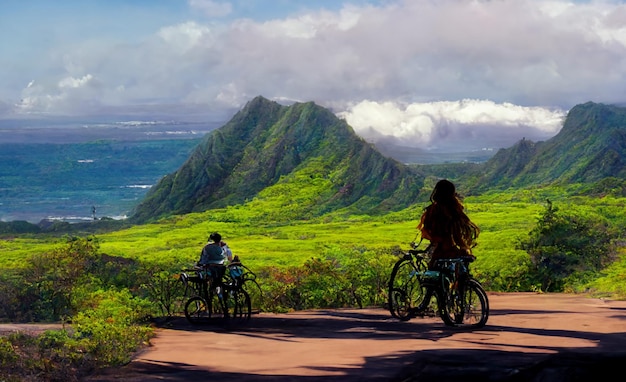
[[626,108],[588,102],[572,108],[545,142],[522,139],[465,176],[475,190],[626,178]]

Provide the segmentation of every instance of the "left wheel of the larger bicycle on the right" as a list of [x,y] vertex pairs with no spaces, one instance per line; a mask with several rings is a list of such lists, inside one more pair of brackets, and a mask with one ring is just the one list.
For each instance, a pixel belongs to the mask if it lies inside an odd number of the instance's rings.
[[420,272],[425,270],[421,262],[415,264],[409,258],[396,262],[389,279],[388,304],[392,317],[402,321],[409,320],[411,309],[422,303],[426,296],[426,287],[421,283]]

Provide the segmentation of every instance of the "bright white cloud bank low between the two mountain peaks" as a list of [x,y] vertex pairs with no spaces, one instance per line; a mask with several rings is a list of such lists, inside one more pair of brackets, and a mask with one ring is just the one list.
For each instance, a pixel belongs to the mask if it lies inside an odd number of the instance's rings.
[[522,107],[486,100],[442,101],[400,105],[362,101],[338,113],[355,132],[371,142],[420,148],[493,147],[522,138],[543,140],[563,124],[562,110]]

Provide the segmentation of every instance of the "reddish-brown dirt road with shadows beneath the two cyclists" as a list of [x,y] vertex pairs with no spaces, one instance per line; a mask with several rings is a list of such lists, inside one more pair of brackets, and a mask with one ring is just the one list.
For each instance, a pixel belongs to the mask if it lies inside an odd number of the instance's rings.
[[487,326],[472,331],[382,309],[263,313],[230,331],[177,319],[89,381],[584,381],[626,366],[626,301],[489,299]]

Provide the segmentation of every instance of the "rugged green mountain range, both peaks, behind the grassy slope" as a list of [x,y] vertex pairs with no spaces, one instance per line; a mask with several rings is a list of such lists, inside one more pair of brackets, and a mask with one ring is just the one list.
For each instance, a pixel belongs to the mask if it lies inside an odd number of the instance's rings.
[[[162,178],[130,220],[143,223],[245,203],[278,184],[314,193],[304,201],[292,197],[294,209],[297,205],[304,216],[338,209],[382,213],[426,198],[420,195],[426,177],[453,179],[466,195],[494,188],[596,183],[626,178],[625,158],[626,108],[617,106],[578,105],[553,138],[522,139],[483,164],[403,165],[313,102],[282,106],[257,97],[208,134],[182,167]],[[319,187],[298,186],[302,176]],[[285,190],[289,187],[270,192]]]

